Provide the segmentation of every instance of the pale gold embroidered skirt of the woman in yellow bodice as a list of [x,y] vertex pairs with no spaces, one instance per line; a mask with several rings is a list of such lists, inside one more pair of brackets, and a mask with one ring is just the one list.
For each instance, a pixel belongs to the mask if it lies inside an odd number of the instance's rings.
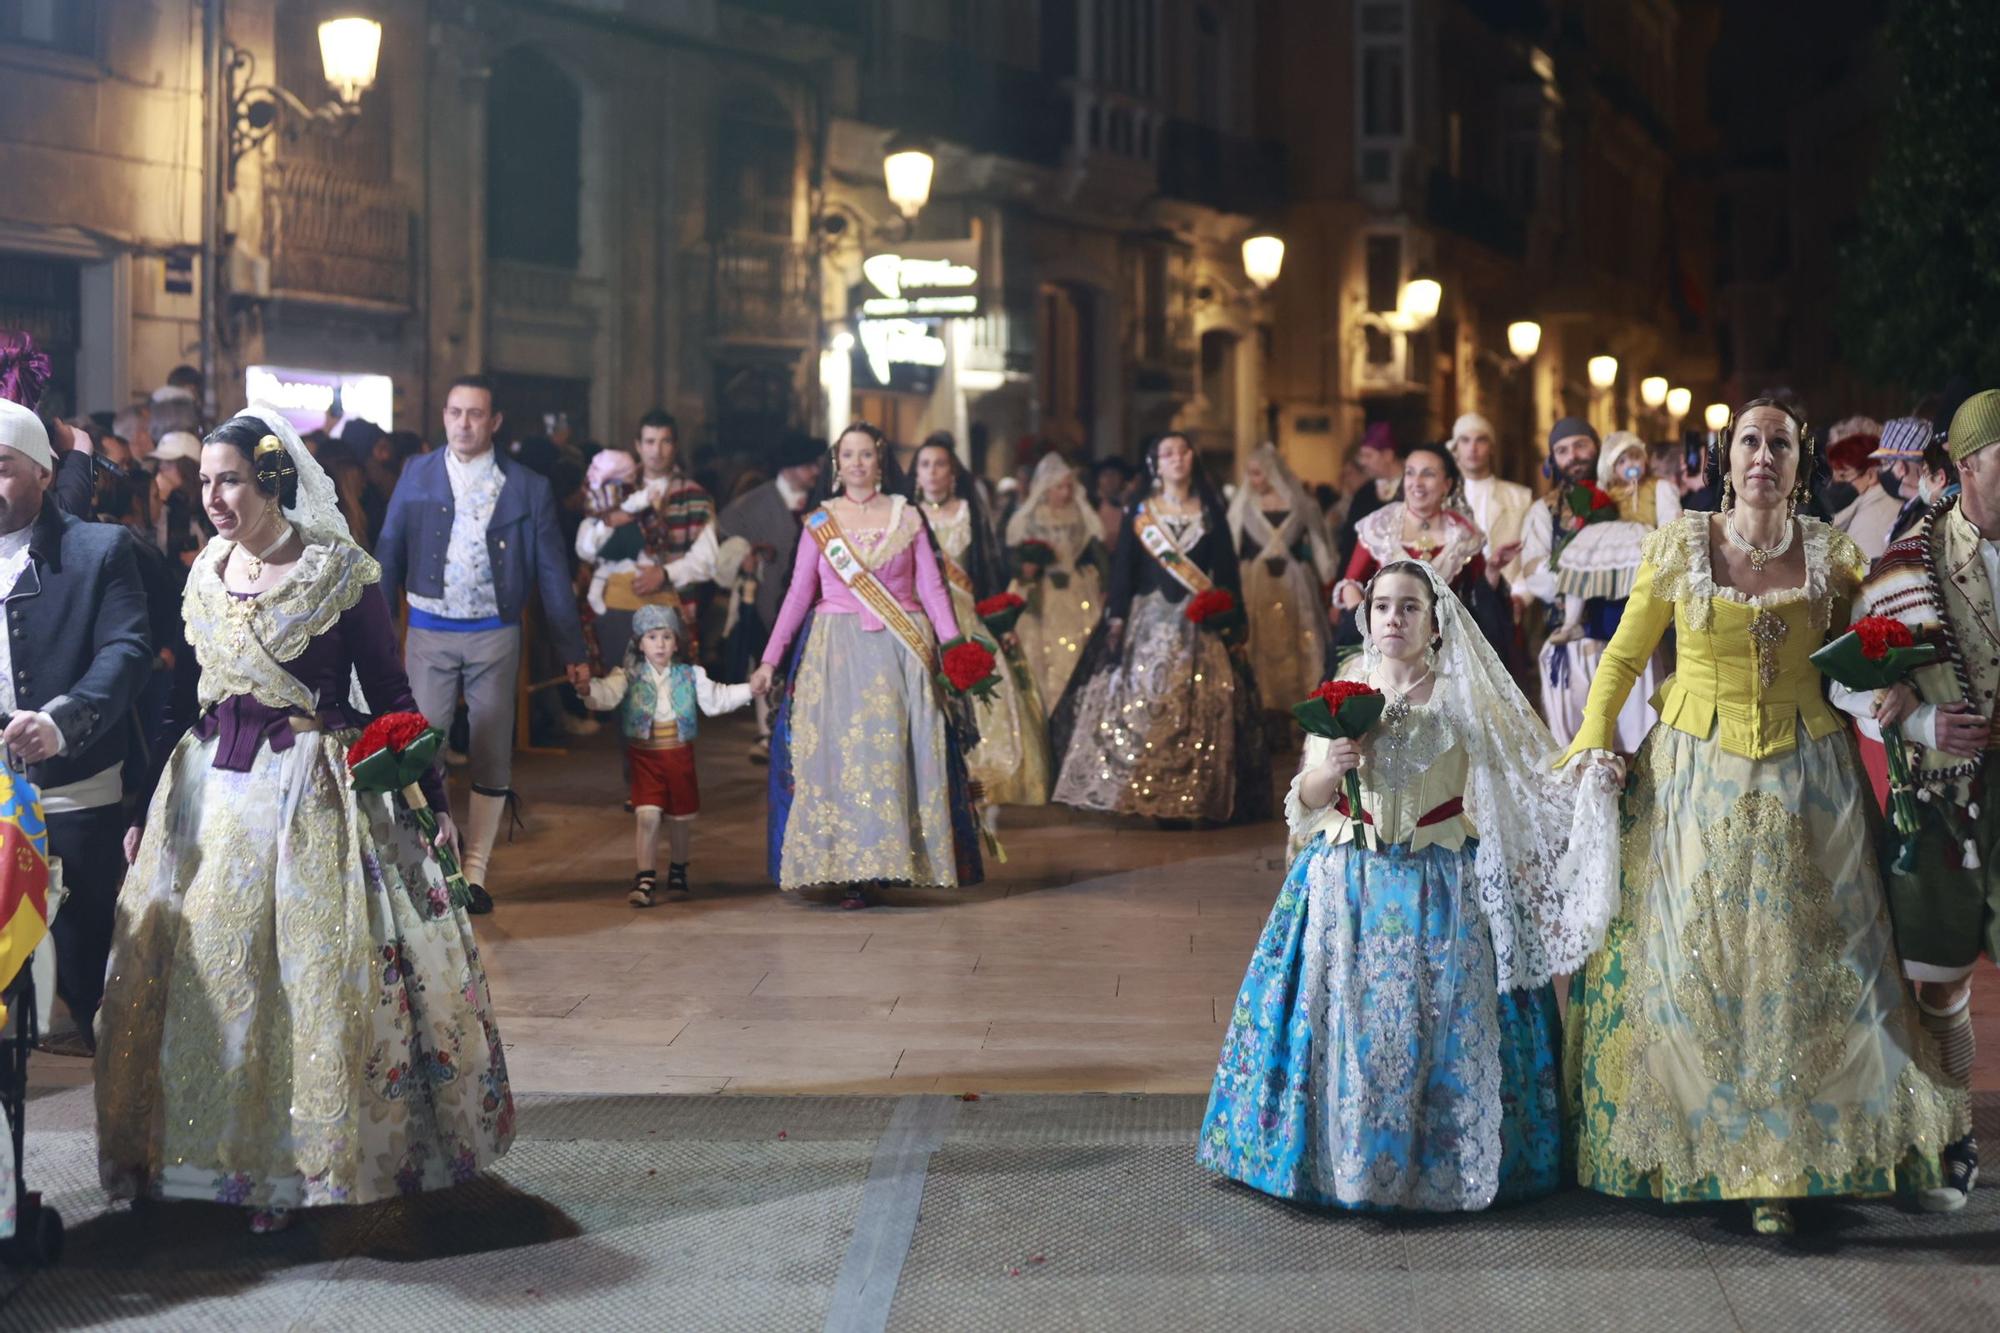
[[1854,741],[1768,759],[1656,727],[1624,889],[1572,979],[1576,1175],[1612,1195],[1880,1195],[1966,1133],[1898,977]]

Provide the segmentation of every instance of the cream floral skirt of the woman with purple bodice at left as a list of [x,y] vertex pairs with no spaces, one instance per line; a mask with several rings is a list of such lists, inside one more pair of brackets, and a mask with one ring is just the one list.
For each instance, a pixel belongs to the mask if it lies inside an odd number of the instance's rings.
[[116,1197],[368,1203],[466,1181],[514,1137],[486,971],[422,833],[354,797],[342,739],[168,761],[98,1013]]

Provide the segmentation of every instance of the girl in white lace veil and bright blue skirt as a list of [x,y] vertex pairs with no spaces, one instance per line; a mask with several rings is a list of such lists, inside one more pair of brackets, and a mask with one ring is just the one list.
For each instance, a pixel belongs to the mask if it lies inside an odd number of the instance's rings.
[[1200,1161],[1344,1209],[1550,1193],[1550,975],[1602,939],[1610,905],[1566,885],[1604,883],[1576,873],[1616,855],[1616,797],[1550,773],[1554,741],[1428,564],[1384,566],[1362,610],[1344,675],[1388,705],[1360,741],[1306,741],[1292,867],[1236,997]]

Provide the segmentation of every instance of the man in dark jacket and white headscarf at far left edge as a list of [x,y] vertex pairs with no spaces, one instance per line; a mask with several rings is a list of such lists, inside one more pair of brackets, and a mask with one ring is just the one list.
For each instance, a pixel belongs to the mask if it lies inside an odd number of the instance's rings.
[[58,466],[40,418],[0,400],[0,715],[62,861],[56,993],[92,1049],[124,881],[122,771],[152,648],[132,536],[64,514]]

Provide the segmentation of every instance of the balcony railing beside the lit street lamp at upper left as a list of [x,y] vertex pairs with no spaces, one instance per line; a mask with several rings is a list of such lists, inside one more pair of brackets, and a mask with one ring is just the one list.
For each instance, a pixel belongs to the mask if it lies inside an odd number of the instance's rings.
[[274,292],[410,308],[414,222],[394,186],[278,160],[264,214]]

